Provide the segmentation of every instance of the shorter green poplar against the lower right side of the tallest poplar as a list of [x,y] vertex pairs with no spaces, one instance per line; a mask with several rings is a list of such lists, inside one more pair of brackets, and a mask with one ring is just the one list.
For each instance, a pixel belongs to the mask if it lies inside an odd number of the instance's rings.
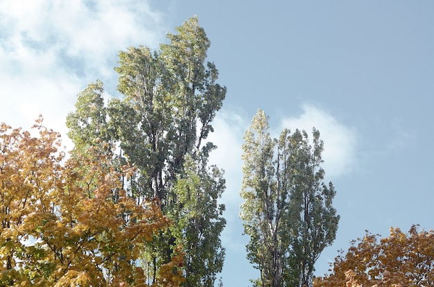
[[216,274],[209,270],[223,268],[225,251],[219,234],[226,223],[221,217],[225,207],[217,203],[225,189],[222,176],[215,166],[208,168],[206,162],[197,166],[186,157],[184,175],[175,185],[177,202],[169,217],[177,222],[171,226],[172,234],[184,234],[176,237],[186,250],[186,286],[214,286]]

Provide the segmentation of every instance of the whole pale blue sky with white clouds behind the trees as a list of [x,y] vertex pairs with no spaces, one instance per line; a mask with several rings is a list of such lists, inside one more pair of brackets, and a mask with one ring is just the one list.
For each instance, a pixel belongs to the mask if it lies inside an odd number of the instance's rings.
[[251,286],[245,258],[241,145],[260,108],[277,136],[313,127],[324,140],[326,180],[340,223],[315,264],[365,230],[434,229],[434,2],[419,1],[0,1],[0,122],[31,128],[39,114],[62,133],[77,94],[100,79],[116,92],[117,54],[158,49],[198,15],[227,95],[209,137],[225,170],[224,286]]

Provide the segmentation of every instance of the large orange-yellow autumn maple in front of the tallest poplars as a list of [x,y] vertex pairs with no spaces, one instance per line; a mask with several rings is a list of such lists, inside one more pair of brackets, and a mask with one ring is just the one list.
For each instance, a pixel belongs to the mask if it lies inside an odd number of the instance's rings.
[[179,286],[175,250],[146,278],[141,249],[169,225],[157,200],[123,189],[130,168],[107,155],[65,159],[42,118],[31,132],[0,123],[0,286]]

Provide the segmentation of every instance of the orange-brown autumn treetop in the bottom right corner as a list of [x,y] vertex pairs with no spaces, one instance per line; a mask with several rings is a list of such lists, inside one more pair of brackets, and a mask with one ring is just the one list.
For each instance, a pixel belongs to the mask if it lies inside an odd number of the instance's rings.
[[[358,242],[358,244],[356,244]],[[333,263],[333,272],[315,279],[314,286],[433,286],[434,232],[413,225],[408,234],[390,228],[381,238],[367,232],[352,241]]]

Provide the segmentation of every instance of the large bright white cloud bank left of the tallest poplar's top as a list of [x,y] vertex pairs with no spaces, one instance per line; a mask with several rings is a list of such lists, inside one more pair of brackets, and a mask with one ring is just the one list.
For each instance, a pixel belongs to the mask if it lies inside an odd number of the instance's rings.
[[27,130],[42,114],[65,138],[80,90],[99,78],[114,93],[117,54],[155,49],[163,16],[148,1],[0,1],[0,121]]

